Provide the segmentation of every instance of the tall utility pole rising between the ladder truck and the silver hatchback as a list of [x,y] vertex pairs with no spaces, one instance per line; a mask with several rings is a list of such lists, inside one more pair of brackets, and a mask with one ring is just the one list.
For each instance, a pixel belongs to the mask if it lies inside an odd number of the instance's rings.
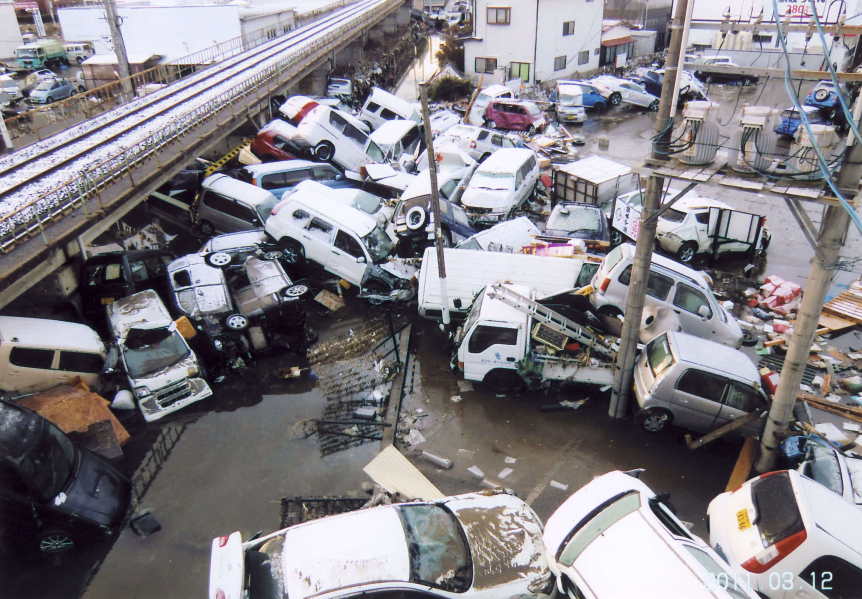
[[[661,87],[659,112],[655,124],[655,131],[657,134],[660,134],[660,137],[653,144],[653,152],[650,156],[653,160],[667,159],[667,148],[671,140],[671,128],[668,127],[668,124],[671,117],[674,116],[671,115],[671,105],[676,105],[674,95],[678,93],[676,90],[677,70],[678,68],[682,68],[679,64],[680,50],[682,48],[683,29],[689,2],[694,2],[694,0],[679,1],[677,4],[677,13],[674,15],[673,24],[671,25],[671,46],[667,49],[665,80]],[[667,130],[665,131],[665,129]],[[608,414],[614,418],[623,418],[626,415],[628,397],[631,395],[632,385],[634,384],[634,360],[637,357],[638,351],[640,319],[643,316],[649,267],[653,261],[653,247],[655,246],[657,221],[651,217],[661,207],[661,194],[664,182],[665,179],[661,177],[650,176],[650,178],[647,178],[647,193],[640,209],[640,229],[634,252],[632,278],[628,284],[628,296],[626,298],[626,320],[622,323],[620,352],[616,356],[614,389],[611,392],[610,407],[608,410]]]

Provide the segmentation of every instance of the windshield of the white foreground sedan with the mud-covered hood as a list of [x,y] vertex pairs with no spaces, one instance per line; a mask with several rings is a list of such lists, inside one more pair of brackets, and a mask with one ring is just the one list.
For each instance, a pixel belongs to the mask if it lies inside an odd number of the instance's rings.
[[410,582],[464,592],[472,584],[472,560],[464,530],[439,505],[396,508],[410,557]]

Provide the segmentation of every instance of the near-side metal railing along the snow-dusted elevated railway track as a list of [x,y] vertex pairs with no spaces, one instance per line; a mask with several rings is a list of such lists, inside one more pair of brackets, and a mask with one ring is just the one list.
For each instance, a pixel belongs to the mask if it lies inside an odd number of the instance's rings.
[[[403,0],[386,0],[378,4],[363,16],[354,17],[309,46],[284,56],[276,64],[247,78],[232,90],[178,117],[171,125],[137,142],[134,147],[112,155],[102,163],[80,172],[78,177],[3,215],[0,217],[0,252],[9,253],[36,234],[42,234],[42,239],[48,245],[44,230],[63,215],[74,209],[83,209],[84,215],[89,216],[86,206],[88,200],[124,178],[129,178],[134,185],[132,173],[135,169],[151,159],[157,159],[159,152],[184,139],[216,115],[227,110],[230,110],[231,116],[246,115],[248,106],[269,97],[273,90],[296,77],[307,65],[334,50],[346,38],[378,22],[402,3]],[[253,102],[249,103],[248,98],[252,95]],[[102,205],[101,197],[99,205]]]

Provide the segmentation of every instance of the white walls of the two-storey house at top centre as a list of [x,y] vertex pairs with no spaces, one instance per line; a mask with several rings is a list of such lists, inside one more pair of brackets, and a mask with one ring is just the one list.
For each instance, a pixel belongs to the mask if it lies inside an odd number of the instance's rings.
[[[479,0],[476,3],[477,39],[464,43],[465,75],[478,80],[476,58],[496,58],[497,66],[511,63],[530,65],[529,81],[563,78],[598,67],[596,48],[601,45],[603,3],[598,0]],[[509,25],[487,23],[487,7],[510,4]],[[536,17],[538,16],[538,26]],[[563,35],[563,23],[574,21],[572,35]],[[587,62],[578,65],[578,53],[588,52]],[[565,68],[554,70],[554,59],[565,56]],[[486,75],[485,80],[491,76]]]

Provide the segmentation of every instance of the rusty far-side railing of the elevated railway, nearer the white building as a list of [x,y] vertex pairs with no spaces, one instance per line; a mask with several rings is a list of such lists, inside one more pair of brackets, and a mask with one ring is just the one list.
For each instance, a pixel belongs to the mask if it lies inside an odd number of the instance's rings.
[[[356,2],[357,0],[337,0],[295,18],[294,24],[297,27],[302,27],[316,21],[321,16],[332,13],[335,9]],[[273,31],[278,32],[279,30],[281,31],[280,34],[273,34]],[[146,71],[135,73],[131,77],[117,79],[109,84],[86,90],[81,95],[28,110],[20,115],[10,116],[4,120],[6,128],[9,130],[9,137],[13,145],[16,145],[16,149],[21,149],[42,140],[44,137],[64,131],[78,122],[83,122],[85,119],[91,119],[121,106],[129,100],[128,90],[133,90],[134,95],[138,97],[146,96],[161,89],[164,85],[188,77],[202,68],[209,68],[209,66],[222,60],[233,58],[237,54],[262,46],[268,41],[276,40],[291,30],[289,23],[279,21],[275,25],[260,28],[249,34],[240,35],[215,44],[215,46],[153,66]],[[31,139],[25,142],[28,136]]]

